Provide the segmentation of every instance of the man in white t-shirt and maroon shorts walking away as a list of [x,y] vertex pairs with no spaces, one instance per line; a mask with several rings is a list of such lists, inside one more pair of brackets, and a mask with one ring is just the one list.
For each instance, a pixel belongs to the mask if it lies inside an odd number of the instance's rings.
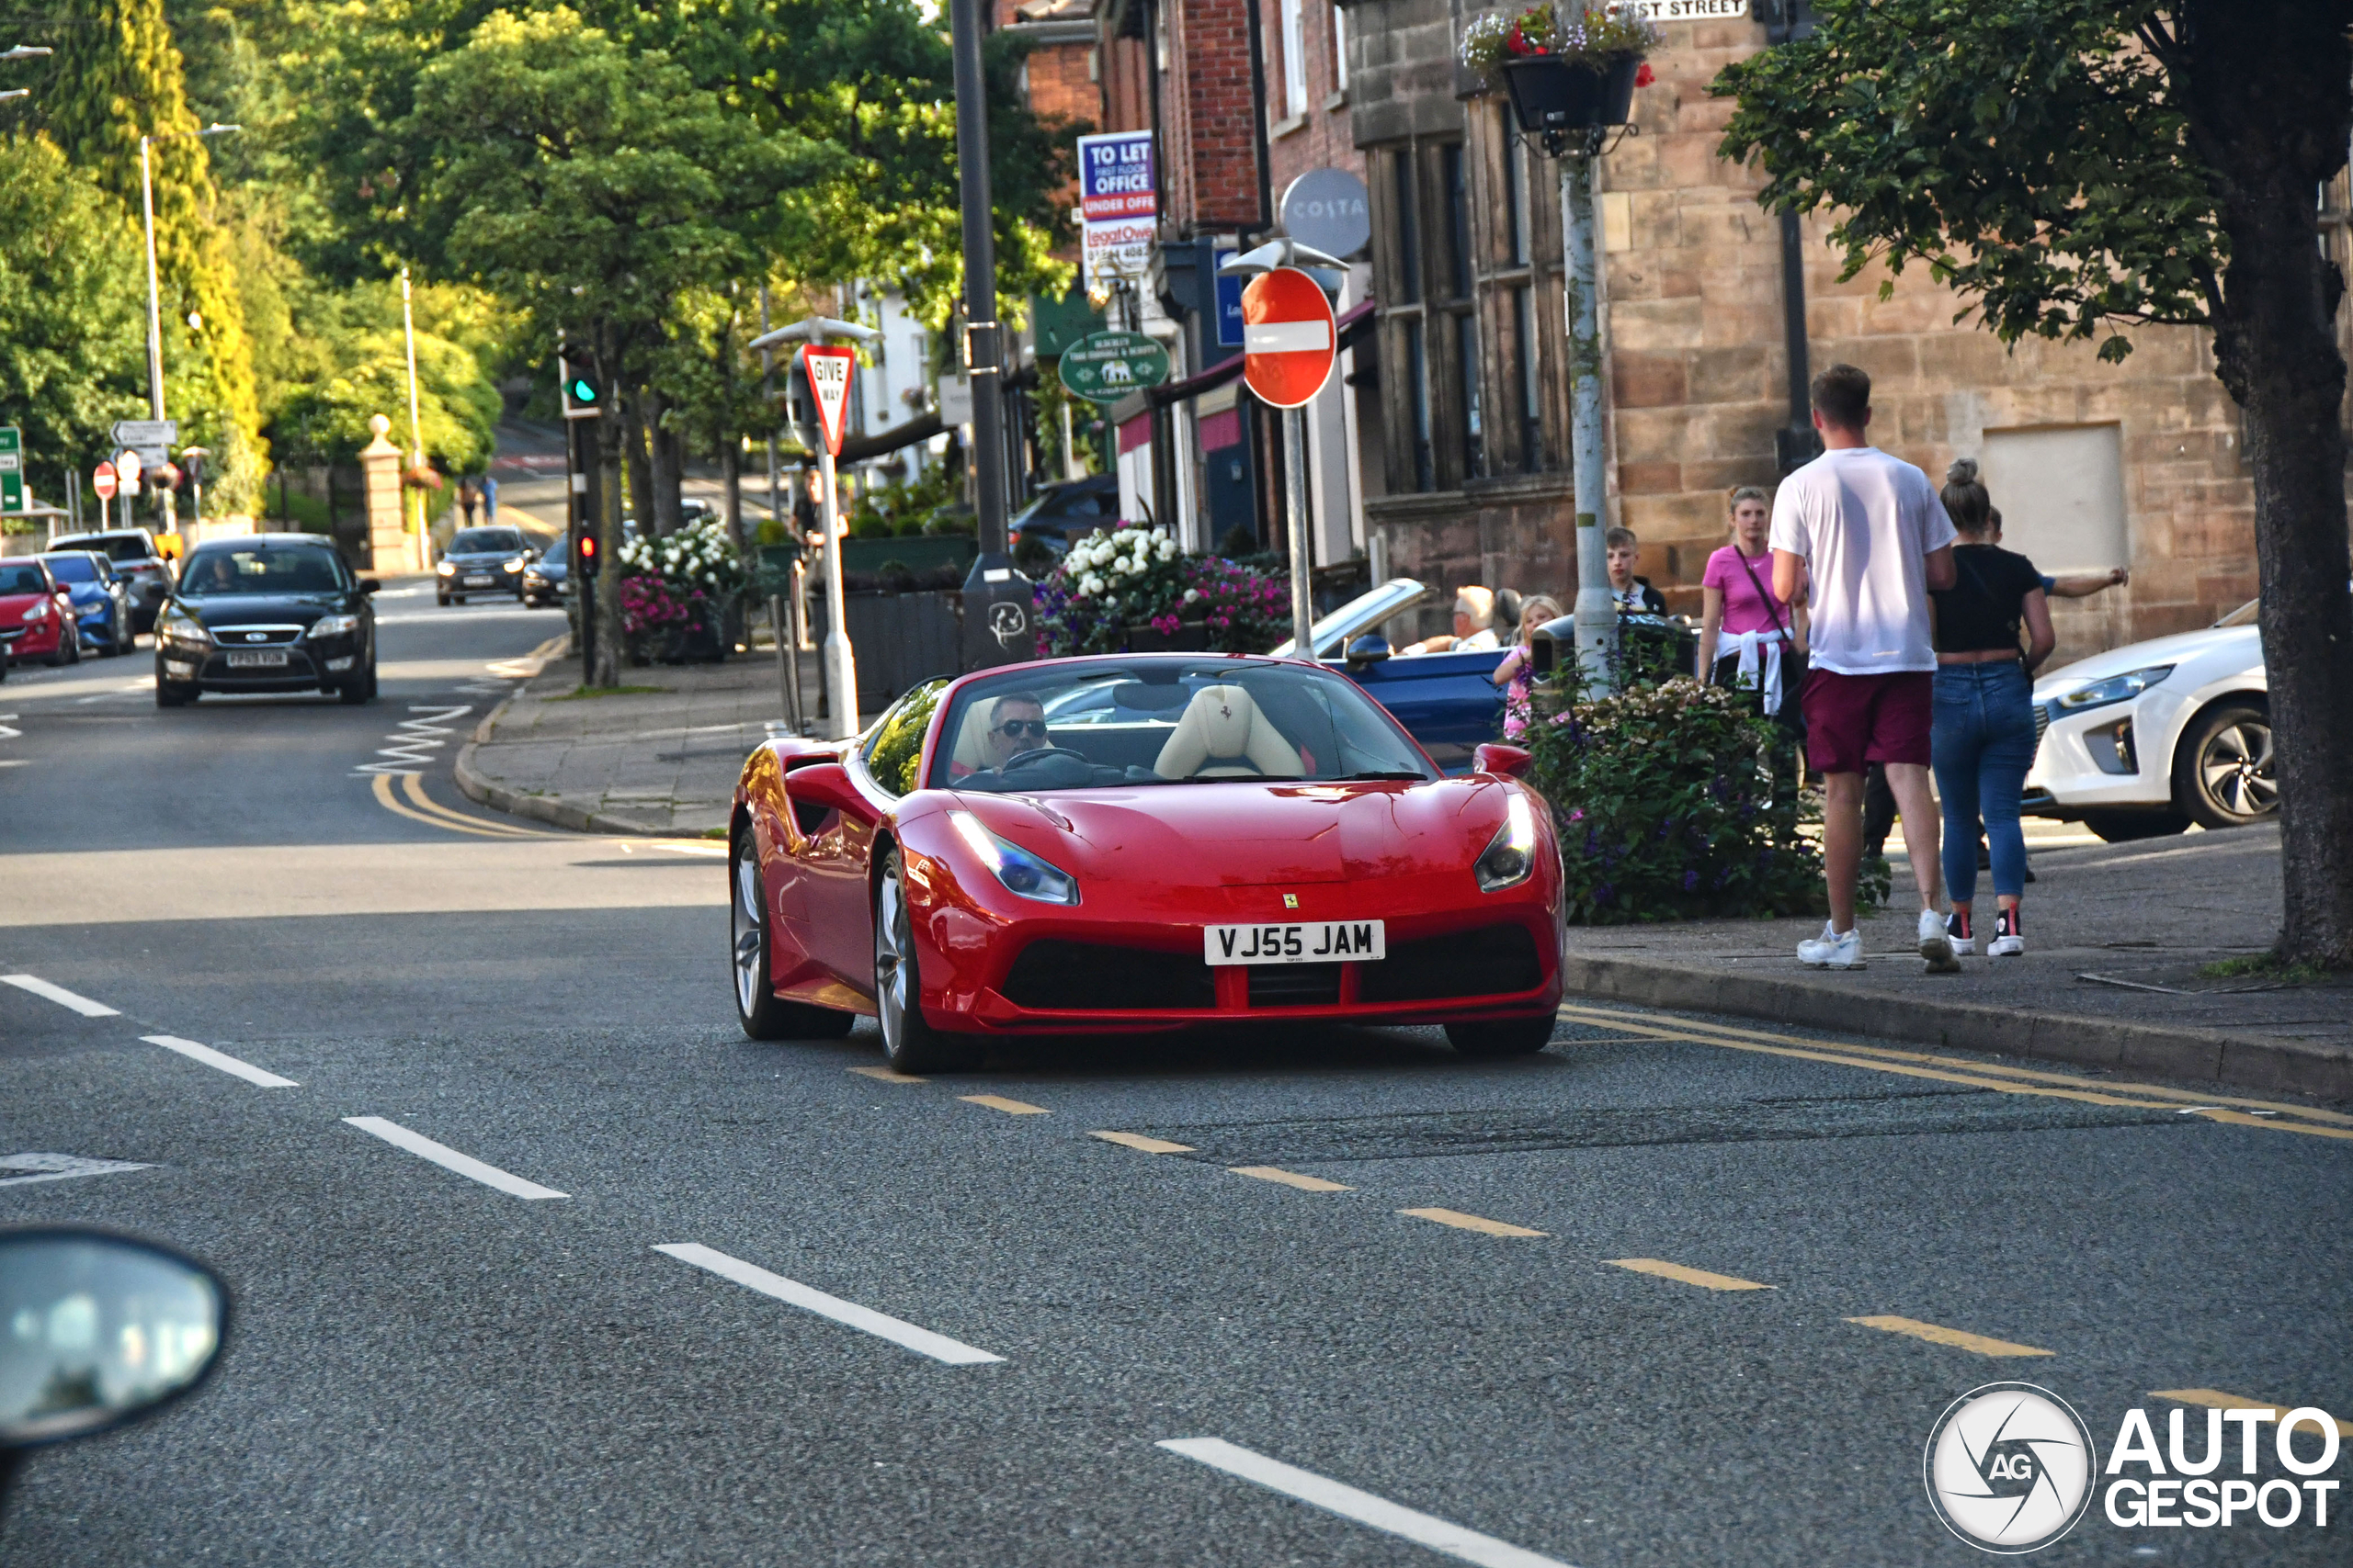
[[1812,654],[1800,691],[1805,755],[1826,778],[1821,860],[1831,919],[1798,943],[1812,969],[1861,969],[1854,879],[1864,858],[1864,769],[1887,764],[1904,846],[1920,886],[1920,957],[1960,969],[1946,933],[1937,863],[1937,799],[1927,783],[1937,646],[1929,590],[1953,585],[1953,520],[1937,487],[1873,447],[1871,376],[1833,364],[1814,376],[1824,454],[1781,482],[1772,508],[1772,590],[1809,609]]

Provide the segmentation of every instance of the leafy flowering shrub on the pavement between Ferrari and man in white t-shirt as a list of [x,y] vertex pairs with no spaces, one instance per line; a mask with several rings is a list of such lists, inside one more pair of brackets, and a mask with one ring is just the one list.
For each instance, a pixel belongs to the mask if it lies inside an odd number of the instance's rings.
[[[1537,691],[1522,738],[1553,802],[1569,919],[1819,912],[1821,851],[1786,741],[1753,698],[1689,677],[1584,701]],[[1864,903],[1887,898],[1866,865]]]

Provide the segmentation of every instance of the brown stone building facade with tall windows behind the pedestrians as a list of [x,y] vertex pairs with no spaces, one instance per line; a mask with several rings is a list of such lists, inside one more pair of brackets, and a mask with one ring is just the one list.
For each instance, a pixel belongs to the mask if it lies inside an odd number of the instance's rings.
[[[1558,167],[1471,96],[1459,0],[1348,7],[1348,108],[1374,195],[1381,482],[1367,529],[1391,571],[1442,585],[1577,585]],[[1609,348],[1609,517],[1678,611],[1725,543],[1725,491],[1774,484],[1791,425],[1781,223],[1760,176],[1715,153],[1729,103],[1706,85],[1765,47],[1755,19],[1666,24],[1635,134],[1598,172]],[[2005,543],[2045,569],[2127,567],[2132,585],[2061,604],[2061,658],[2205,625],[2254,595],[2238,409],[2207,336],[2141,329],[2122,364],[2087,346],[2007,350],[1925,268],[1840,280],[1826,223],[1800,228],[1802,341],[1875,383],[1878,442],[1929,470],[1984,463]],[[1889,296],[1880,299],[1880,287]],[[1369,489],[1369,484],[1367,484]]]

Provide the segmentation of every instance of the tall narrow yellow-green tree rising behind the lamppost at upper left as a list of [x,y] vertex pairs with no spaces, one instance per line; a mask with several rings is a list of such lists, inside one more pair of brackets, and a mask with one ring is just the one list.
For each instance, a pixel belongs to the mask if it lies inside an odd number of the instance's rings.
[[188,113],[181,54],[162,0],[68,0],[40,120],[66,155],[139,212],[139,139],[151,136],[155,268],[162,327],[193,348],[193,374],[167,381],[181,437],[214,451],[207,496],[224,510],[261,498],[261,411],[252,348],[219,226],[212,165]]

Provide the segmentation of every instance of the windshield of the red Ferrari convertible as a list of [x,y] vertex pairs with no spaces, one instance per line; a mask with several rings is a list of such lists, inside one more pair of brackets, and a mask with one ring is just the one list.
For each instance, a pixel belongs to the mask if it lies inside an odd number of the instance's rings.
[[1238,658],[1089,658],[958,691],[932,788],[1438,778],[1355,682]]

